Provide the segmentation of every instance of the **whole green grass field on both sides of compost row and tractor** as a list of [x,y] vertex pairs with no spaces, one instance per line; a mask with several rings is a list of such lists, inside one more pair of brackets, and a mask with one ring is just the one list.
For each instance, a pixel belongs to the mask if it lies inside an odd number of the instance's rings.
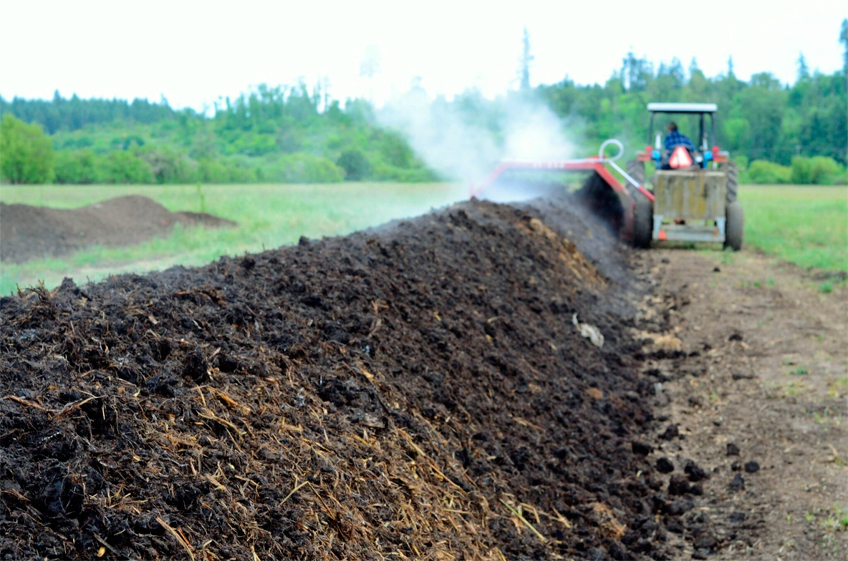
[[[0,294],[43,280],[76,282],[110,274],[202,265],[240,255],[419,215],[466,196],[453,184],[344,183],[226,186],[2,186],[0,201],[74,208],[141,194],[171,211],[209,212],[239,223],[234,229],[176,228],[167,239],[127,248],[92,248],[65,258],[0,263]],[[743,186],[745,243],[808,268],[848,271],[848,189]]]

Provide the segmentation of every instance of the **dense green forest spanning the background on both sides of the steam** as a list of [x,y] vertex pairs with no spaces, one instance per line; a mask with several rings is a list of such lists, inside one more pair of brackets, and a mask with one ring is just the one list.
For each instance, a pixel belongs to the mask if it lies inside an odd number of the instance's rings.
[[[848,49],[848,36],[843,40]],[[801,56],[795,83],[785,85],[767,72],[740,80],[732,61],[709,78],[695,61],[685,69],[676,59],[654,65],[630,53],[604,85],[566,78],[527,88],[524,82],[522,90],[494,100],[469,90],[432,103],[498,139],[504,105],[515,96],[532,98],[589,154],[606,138],[622,139],[633,151],[644,146],[649,101],[716,102],[718,142],[748,181],[844,183],[847,72],[811,72]],[[440,179],[402,134],[379,125],[379,111],[365,100],[342,104],[317,87],[262,85],[210,113],[175,110],[164,99],[65,99],[58,92],[50,101],[0,98],[3,178],[82,184]]]

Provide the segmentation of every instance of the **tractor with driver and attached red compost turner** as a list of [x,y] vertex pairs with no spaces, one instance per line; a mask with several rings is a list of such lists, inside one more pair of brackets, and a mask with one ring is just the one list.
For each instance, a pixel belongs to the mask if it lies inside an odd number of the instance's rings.
[[[622,144],[611,139],[601,144],[597,156],[582,160],[503,162],[472,187],[471,195],[501,201],[515,200],[516,192],[523,198],[551,196],[562,193],[564,185],[538,181],[542,172],[589,172],[589,179],[575,195],[633,246],[706,243],[738,251],[745,217],[736,198],[736,164],[715,143],[717,110],[714,103],[649,103],[648,134],[650,141],[656,132],[654,145],[648,144],[635,160],[627,162],[626,170],[615,163],[622,155]],[[665,145],[662,134],[654,131],[655,117],[661,114],[681,115],[690,124],[697,121],[695,142],[687,139],[687,145]],[[676,124],[673,128],[677,130]],[[605,155],[609,145],[618,147],[614,156]],[[646,181],[648,162],[656,169],[650,182]],[[503,180],[516,171],[525,176],[533,172],[530,176],[537,177],[511,183]],[[646,188],[649,184],[650,190]]]

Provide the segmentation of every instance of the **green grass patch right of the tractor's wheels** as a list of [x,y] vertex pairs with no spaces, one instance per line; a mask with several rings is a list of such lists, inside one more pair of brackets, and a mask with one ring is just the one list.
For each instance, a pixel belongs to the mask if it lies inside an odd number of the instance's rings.
[[739,201],[745,208],[746,247],[804,268],[848,271],[845,186],[743,185]]

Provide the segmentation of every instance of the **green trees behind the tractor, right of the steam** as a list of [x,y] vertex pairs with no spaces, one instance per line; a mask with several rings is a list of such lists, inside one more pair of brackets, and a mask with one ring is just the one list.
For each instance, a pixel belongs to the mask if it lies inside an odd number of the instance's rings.
[[790,164],[794,156],[824,156],[845,164],[848,151],[848,95],[845,70],[811,72],[799,57],[794,84],[772,74],[736,77],[732,59],[725,73],[708,78],[692,61],[654,67],[632,53],[619,72],[601,86],[564,80],[540,90],[557,114],[579,116],[592,138],[625,135],[637,145],[647,141],[645,105],[651,101],[718,104],[718,140],[747,160]]

